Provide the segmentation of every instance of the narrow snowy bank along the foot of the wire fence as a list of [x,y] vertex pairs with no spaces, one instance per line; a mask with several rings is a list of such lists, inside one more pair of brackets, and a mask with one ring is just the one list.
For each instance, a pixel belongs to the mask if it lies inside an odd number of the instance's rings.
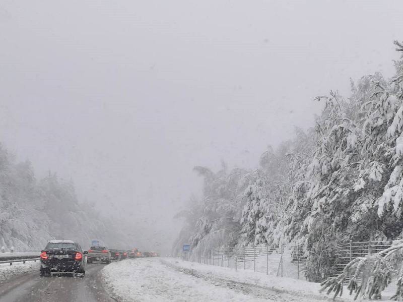
[[[248,271],[248,270],[231,270],[228,268],[217,267],[212,265],[199,264],[195,262],[182,261],[174,258],[164,258],[163,263],[176,267],[178,269],[194,270],[200,276],[209,279],[224,279],[243,284],[251,284],[254,286],[264,287],[274,290],[276,292],[290,293],[298,297],[305,297],[312,299],[327,299],[333,295],[326,295],[320,293],[320,284],[308,282],[304,280],[297,280],[292,278],[280,278],[274,276],[267,276],[263,273]],[[344,289],[342,297],[336,300],[353,300],[353,296],[348,294],[347,288]],[[391,301],[388,297],[383,297],[383,301]],[[301,301],[301,300],[299,300]]]

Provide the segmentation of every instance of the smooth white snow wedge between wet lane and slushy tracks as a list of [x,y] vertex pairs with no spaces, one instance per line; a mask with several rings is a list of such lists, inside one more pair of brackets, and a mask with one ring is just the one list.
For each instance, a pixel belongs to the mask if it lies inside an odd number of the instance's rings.
[[103,269],[103,276],[105,288],[123,301],[267,302],[185,275],[155,258],[111,263]]

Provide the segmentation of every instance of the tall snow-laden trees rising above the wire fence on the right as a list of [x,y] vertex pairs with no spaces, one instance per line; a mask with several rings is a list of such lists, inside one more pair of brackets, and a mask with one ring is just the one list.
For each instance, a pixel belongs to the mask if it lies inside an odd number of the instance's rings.
[[[403,45],[395,41],[399,54]],[[257,170],[206,167],[203,198],[189,201],[174,246],[298,243],[310,250],[306,276],[330,275],[328,259],[346,241],[391,240],[403,230],[403,59],[395,75],[351,81],[351,95],[318,96],[312,128],[269,147]]]

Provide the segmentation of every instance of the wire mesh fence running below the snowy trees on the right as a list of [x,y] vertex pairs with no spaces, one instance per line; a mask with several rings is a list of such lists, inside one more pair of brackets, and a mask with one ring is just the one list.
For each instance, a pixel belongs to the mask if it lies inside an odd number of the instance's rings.
[[[343,273],[346,265],[357,257],[365,257],[385,250],[394,241],[362,241],[349,242],[335,247],[329,259],[331,276]],[[305,280],[307,259],[310,250],[304,245],[247,246],[214,248],[204,255],[187,255],[187,259],[204,264],[227,267],[235,270],[252,270],[267,275],[290,277]],[[346,283],[350,281],[347,278]],[[359,280],[362,276],[359,276]],[[397,272],[392,275],[392,282],[384,290],[394,293],[396,290]]]

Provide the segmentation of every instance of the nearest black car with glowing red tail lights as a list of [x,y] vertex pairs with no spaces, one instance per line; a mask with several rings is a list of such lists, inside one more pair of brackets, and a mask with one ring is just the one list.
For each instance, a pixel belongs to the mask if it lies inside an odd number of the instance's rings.
[[86,259],[80,245],[72,240],[51,240],[41,251],[40,276],[70,273],[85,276]]

